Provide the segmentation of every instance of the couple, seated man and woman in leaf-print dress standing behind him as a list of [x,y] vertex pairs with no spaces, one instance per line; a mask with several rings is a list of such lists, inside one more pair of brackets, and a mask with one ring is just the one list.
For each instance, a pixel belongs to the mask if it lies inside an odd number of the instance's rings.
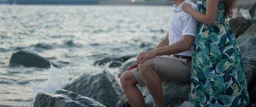
[[[225,19],[236,0],[174,0],[169,32],[157,47],[141,52],[120,82],[132,107],[145,107],[136,84],[146,86],[155,107],[164,107],[161,82],[189,82],[195,107],[244,107],[249,95],[241,52]],[[204,94],[206,99],[198,99]]]

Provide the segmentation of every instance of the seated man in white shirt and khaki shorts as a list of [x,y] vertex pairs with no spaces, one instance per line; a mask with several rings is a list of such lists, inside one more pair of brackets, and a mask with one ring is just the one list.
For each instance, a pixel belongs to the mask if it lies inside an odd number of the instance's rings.
[[[145,107],[142,93],[137,88],[147,86],[156,107],[164,107],[161,82],[189,82],[192,44],[198,21],[181,10],[183,2],[197,5],[190,0],[174,0],[175,9],[169,22],[169,32],[154,50],[141,52],[137,62],[131,65],[121,77],[121,85],[132,107]],[[164,56],[163,56],[164,55]]]

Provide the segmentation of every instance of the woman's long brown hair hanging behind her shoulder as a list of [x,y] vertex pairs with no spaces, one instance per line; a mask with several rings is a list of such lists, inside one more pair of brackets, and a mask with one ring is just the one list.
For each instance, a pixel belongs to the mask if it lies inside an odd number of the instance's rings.
[[224,10],[225,10],[225,18],[233,17],[233,8],[236,4],[237,0],[224,0]]

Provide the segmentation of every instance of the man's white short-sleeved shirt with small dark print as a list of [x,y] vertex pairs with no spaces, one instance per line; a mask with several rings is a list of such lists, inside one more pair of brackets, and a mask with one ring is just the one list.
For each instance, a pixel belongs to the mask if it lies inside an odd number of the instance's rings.
[[[184,2],[190,3],[193,8],[198,10],[198,6],[190,2],[190,0],[185,0]],[[169,23],[169,45],[180,41],[182,36],[184,35],[190,35],[195,37],[198,21],[193,18],[191,14],[181,10],[181,5],[183,3],[181,3],[177,7],[176,5],[174,5],[175,10],[172,13]],[[193,46],[190,50],[175,55],[192,56],[192,48]]]

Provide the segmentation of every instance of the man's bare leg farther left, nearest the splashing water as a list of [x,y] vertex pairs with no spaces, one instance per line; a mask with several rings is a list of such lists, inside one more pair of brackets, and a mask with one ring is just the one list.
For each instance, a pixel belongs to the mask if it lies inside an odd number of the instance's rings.
[[131,71],[125,71],[120,77],[120,82],[131,107],[145,107],[145,100],[139,88],[136,86],[138,81],[134,77],[134,74]]

